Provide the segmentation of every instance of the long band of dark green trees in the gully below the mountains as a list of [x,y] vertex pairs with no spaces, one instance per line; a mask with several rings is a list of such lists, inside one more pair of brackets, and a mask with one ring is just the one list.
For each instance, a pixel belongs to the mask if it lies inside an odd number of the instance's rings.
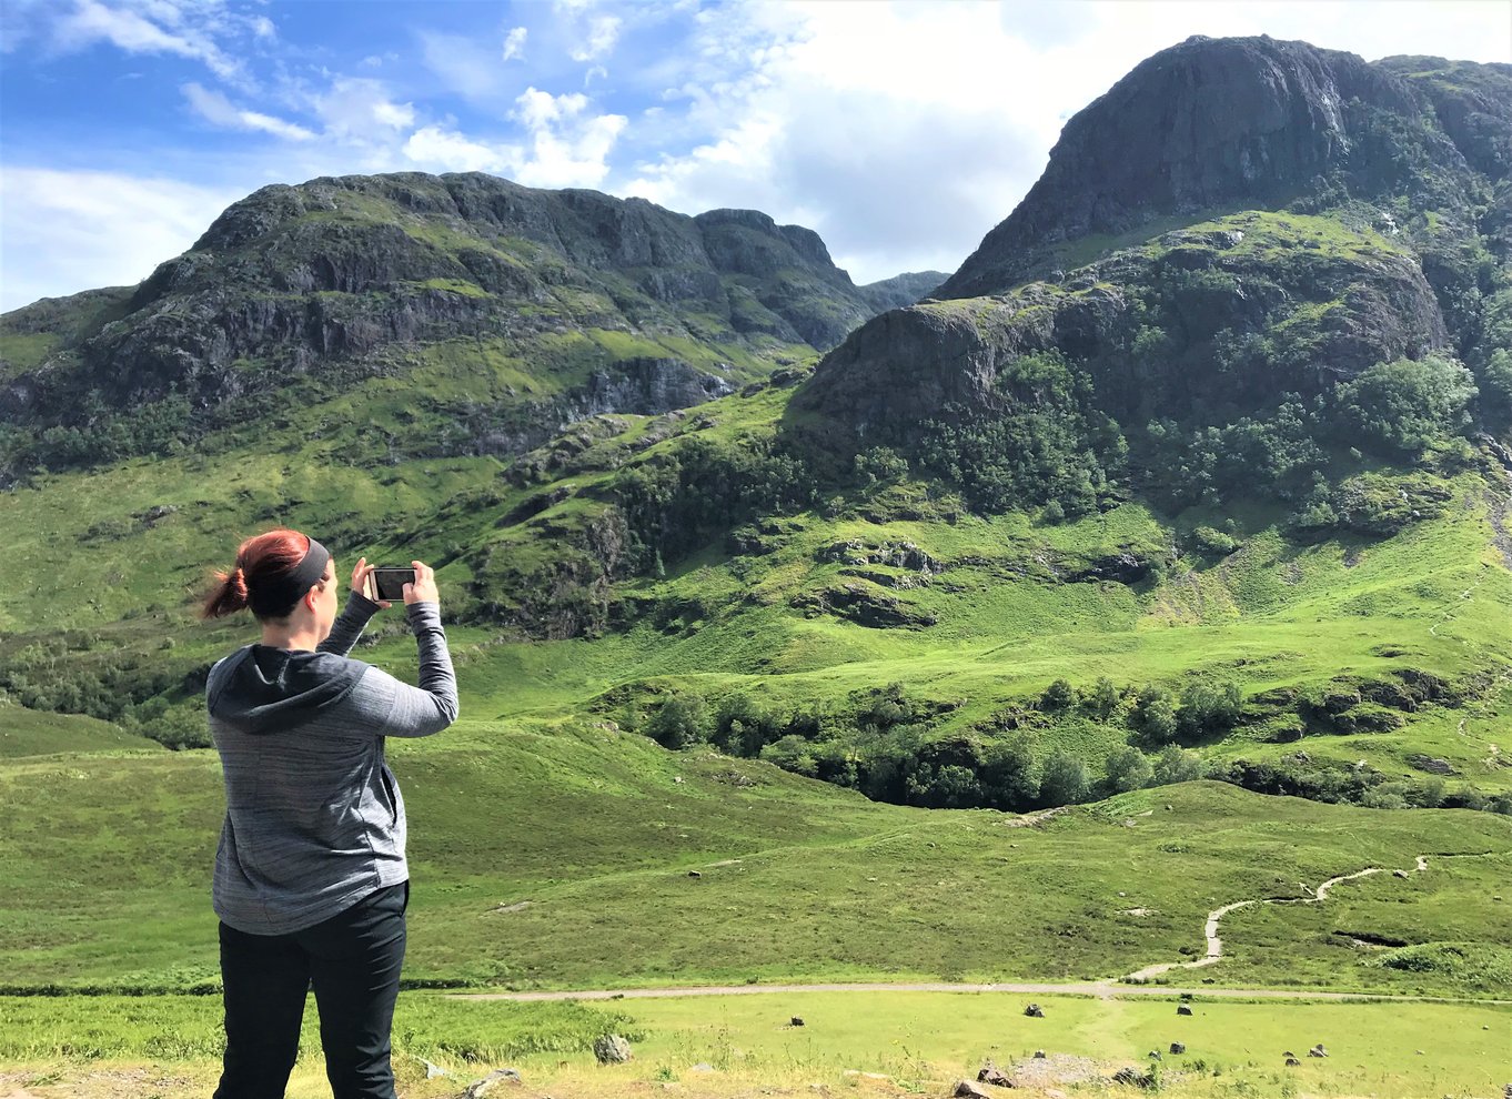
[[1002,732],[999,723],[996,732],[931,738],[933,721],[950,706],[910,697],[900,683],[854,691],[841,707],[792,710],[745,692],[724,695],[712,707],[696,692],[677,692],[661,701],[641,732],[668,748],[712,744],[727,754],[759,757],[792,774],[857,789],[874,801],[928,809],[1027,812],[1216,779],[1261,794],[1374,809],[1512,813],[1512,794],[1450,789],[1436,775],[1394,780],[1368,768],[1312,763],[1305,753],[1285,760],[1205,763],[1173,739],[1161,742],[1161,736],[1232,727],[1241,706],[1234,683],[1193,683],[1178,701],[1158,686],[1120,692],[1107,677],[1086,692],[1057,680],[1037,706],[1063,718],[1123,714],[1136,742],[1116,748],[1093,769],[1075,753],[1042,744],[1033,732],[1034,710],[1005,715],[1009,726],[1024,726],[1019,729]]

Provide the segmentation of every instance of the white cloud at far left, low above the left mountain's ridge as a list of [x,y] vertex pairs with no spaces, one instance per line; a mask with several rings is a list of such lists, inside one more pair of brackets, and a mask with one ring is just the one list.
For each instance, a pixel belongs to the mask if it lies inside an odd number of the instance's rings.
[[0,310],[138,283],[240,197],[118,172],[0,168]]

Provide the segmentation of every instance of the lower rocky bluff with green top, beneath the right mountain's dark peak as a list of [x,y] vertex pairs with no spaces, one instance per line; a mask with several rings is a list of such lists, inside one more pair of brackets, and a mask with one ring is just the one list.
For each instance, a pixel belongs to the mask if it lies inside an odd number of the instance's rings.
[[[1231,351],[1261,340],[1263,355]],[[1105,413],[1143,423],[1311,396],[1447,343],[1411,252],[1321,218],[1234,215],[1114,252],[1064,284],[883,314],[830,352],[797,401],[857,440],[898,443],[922,420],[992,414],[1007,363],[1057,351],[1087,372]]]

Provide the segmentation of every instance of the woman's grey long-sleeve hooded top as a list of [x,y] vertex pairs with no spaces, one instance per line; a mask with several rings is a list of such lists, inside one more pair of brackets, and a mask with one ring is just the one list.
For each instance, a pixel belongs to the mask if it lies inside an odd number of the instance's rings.
[[352,593],[310,652],[239,649],[210,670],[206,707],[225,774],[215,912],[249,934],[289,934],[410,878],[386,736],[457,720],[457,676],[435,603],[410,603],[420,685],[346,656],[378,605]]

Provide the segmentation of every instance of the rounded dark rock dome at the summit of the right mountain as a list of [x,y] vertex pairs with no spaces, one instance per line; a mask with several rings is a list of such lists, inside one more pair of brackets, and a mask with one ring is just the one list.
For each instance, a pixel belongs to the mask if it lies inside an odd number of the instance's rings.
[[1188,38],[1078,112],[1024,201],[939,295],[1009,289],[1049,245],[1149,218],[1275,207],[1349,168],[1352,100],[1415,118],[1412,88],[1352,53],[1259,38]]

